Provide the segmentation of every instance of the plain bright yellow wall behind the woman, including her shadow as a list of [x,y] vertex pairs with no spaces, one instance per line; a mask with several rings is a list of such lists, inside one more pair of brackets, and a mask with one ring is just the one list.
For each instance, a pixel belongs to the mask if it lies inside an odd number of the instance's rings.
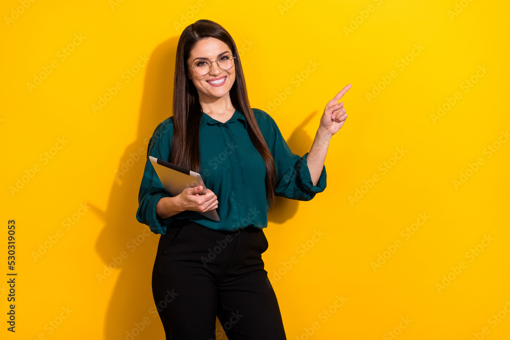
[[[233,36],[251,106],[271,114],[297,154],[310,150],[327,101],[352,84],[342,98],[349,118],[326,158],[327,188],[309,202],[279,199],[264,229],[263,259],[287,337],[510,335],[510,142],[498,144],[510,127],[507,2],[8,0],[0,7],[2,338],[127,339],[143,320],[136,339],[164,338],[151,309],[159,236],[135,213],[147,138],[172,114],[177,40],[202,18]],[[65,59],[63,48],[72,49]],[[477,77],[479,66],[486,71]],[[137,73],[127,77],[128,69]],[[374,87],[380,93],[369,100]],[[109,89],[115,95],[94,112]],[[434,120],[448,100],[455,103]],[[497,148],[491,156],[489,145]],[[398,160],[397,148],[405,151]],[[455,186],[461,172],[469,177]],[[363,195],[349,200],[357,190]],[[74,224],[66,229],[68,218]],[[11,219],[15,333],[6,330]],[[402,230],[417,222],[406,239]],[[309,241],[316,230],[323,236]],[[51,246],[34,257],[45,242]],[[379,254],[387,258],[374,267]],[[443,275],[452,280],[438,288]],[[335,307],[339,297],[347,300]]]

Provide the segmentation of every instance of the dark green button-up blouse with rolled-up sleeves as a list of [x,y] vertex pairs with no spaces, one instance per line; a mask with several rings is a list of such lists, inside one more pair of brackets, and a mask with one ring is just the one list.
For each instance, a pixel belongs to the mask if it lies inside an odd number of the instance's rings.
[[[276,196],[309,201],[326,188],[326,167],[314,186],[307,165],[307,155],[292,153],[274,119],[266,112],[252,109],[260,130],[273,155],[276,167]],[[149,140],[147,161],[138,194],[136,219],[152,232],[164,234],[176,219],[188,219],[216,230],[236,230],[247,226],[267,227],[266,166],[251,143],[247,123],[241,111],[224,123],[202,112],[200,120],[200,160],[203,182],[218,197],[220,222],[186,210],[169,218],[156,215],[156,204],[170,197],[152,167],[148,156],[170,161],[173,117],[161,122]]]

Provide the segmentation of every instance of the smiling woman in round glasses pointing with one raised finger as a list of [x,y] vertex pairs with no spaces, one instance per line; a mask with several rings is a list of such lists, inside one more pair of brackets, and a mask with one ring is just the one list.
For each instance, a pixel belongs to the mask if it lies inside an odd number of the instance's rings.
[[[347,115],[327,104],[310,152],[291,152],[275,121],[251,109],[236,44],[219,24],[198,20],[177,44],[173,116],[147,155],[201,174],[202,188],[165,193],[149,160],[137,220],[162,234],[152,293],[167,339],[214,339],[216,316],[230,340],[286,339],[264,270],[263,228],[275,196],[311,200],[326,187],[330,138]],[[197,212],[216,209],[219,222]]]

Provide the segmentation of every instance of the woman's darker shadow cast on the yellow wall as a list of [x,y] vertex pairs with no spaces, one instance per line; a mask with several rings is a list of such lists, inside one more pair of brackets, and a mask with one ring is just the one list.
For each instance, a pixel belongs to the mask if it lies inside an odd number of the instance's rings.
[[[178,36],[168,39],[150,56],[145,70],[137,139],[126,147],[120,159],[107,211],[92,207],[105,221],[96,243],[96,252],[105,263],[103,272],[97,275],[98,284],[110,285],[110,281],[118,276],[106,313],[106,340],[165,338],[151,288],[152,266],[160,236],[152,233],[148,226],[140,224],[135,214],[148,139],[156,126],[172,115],[173,72],[178,41]],[[314,115],[307,117],[288,141],[296,154],[303,155],[310,151],[313,139],[304,131],[304,126]],[[298,201],[278,197],[269,214],[269,221],[284,223],[296,213],[297,206]],[[285,230],[278,232],[284,233]],[[216,337],[225,339],[218,319],[216,329]],[[211,334],[211,339],[214,339],[214,334]]]

